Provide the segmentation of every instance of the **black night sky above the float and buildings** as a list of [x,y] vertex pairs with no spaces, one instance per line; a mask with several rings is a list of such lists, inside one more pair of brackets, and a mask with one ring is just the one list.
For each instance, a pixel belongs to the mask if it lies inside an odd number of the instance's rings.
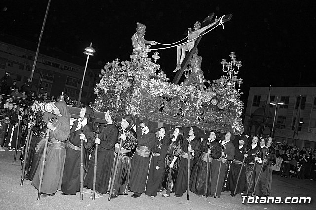
[[[47,3],[2,0],[0,33],[37,43]],[[42,46],[86,59],[82,52],[93,42],[97,52],[89,62],[101,69],[115,58],[130,59],[136,22],[147,26],[146,40],[173,43],[209,13],[232,13],[225,29],[217,27],[198,45],[206,80],[223,75],[221,59],[234,51],[243,64],[238,77],[245,92],[250,85],[315,85],[315,8],[315,0],[52,0]],[[159,56],[173,79],[176,48]]]

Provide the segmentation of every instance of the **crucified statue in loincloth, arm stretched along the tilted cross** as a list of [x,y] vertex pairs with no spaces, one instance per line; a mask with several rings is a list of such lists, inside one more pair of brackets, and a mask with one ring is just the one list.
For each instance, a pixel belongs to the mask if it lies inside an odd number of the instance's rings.
[[182,45],[177,46],[177,67],[173,72],[177,72],[181,68],[181,64],[186,57],[186,51],[191,51],[192,48],[194,47],[194,43],[197,40],[197,36],[199,36],[202,32],[205,30],[209,29],[210,27],[214,26],[219,19],[215,20],[213,23],[204,26],[201,28],[202,24],[197,21],[194,24],[194,31],[192,31],[192,28],[188,29],[188,41]]

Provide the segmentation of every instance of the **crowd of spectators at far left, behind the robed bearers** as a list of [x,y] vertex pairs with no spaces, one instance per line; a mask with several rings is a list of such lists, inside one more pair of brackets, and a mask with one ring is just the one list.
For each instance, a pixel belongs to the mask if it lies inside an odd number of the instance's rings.
[[[13,81],[10,77],[10,73],[6,72],[4,77],[0,80],[0,151],[5,151],[5,146],[9,151],[14,150],[12,143],[16,139],[17,126],[20,120],[21,127],[27,125],[27,109],[35,101],[41,102],[55,102],[59,97],[49,96],[47,92],[40,92],[40,90],[35,93],[31,91],[31,79],[28,78],[27,81],[18,87],[16,81]],[[67,102],[68,106],[77,107],[78,101],[76,99],[69,99]],[[84,103],[80,103],[79,108],[81,108]],[[92,107],[92,102],[88,104]],[[5,129],[4,129],[5,127]],[[5,130],[5,131],[4,131]],[[15,130],[15,131],[14,131]],[[22,129],[21,129],[22,130]],[[12,135],[11,135],[12,134]],[[13,138],[12,138],[12,137]],[[23,147],[23,142],[19,142],[18,149],[21,150]]]

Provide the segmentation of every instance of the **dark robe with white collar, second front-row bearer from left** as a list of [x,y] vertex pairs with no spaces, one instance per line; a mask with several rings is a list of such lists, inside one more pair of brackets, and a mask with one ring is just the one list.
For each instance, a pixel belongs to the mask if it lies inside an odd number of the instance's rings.
[[[72,194],[72,195],[76,195],[76,192],[80,191],[81,128],[76,130],[76,128],[78,127],[78,123],[80,123],[79,120],[80,118],[74,122],[73,127],[70,130],[68,148],[66,152],[66,159],[65,159],[65,165],[64,165],[64,173],[63,173],[63,179],[62,179],[62,185],[61,185],[61,191],[63,193]],[[83,146],[84,146],[83,153],[88,153],[89,152],[88,150],[90,150],[92,146],[94,145],[91,125],[89,124],[84,125],[83,133],[85,134],[85,137],[87,138],[87,142],[83,140]],[[75,147],[70,146],[70,144],[72,144]],[[86,164],[87,163],[85,163],[83,159],[83,167]]]

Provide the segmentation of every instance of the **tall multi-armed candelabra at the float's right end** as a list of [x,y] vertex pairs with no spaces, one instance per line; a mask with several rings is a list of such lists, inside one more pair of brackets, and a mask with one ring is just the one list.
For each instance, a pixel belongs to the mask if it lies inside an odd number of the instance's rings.
[[[217,80],[213,80],[213,86],[215,84],[226,85],[231,89],[232,92],[238,93],[240,91],[240,86],[243,84],[241,78],[237,78],[239,73],[239,68],[242,67],[241,61],[237,61],[235,52],[231,52],[229,55],[231,58],[230,62],[227,62],[226,59],[222,59],[221,64],[223,65],[223,72],[226,73],[226,76],[223,75]],[[226,67],[226,68],[225,68]],[[235,84],[238,84],[238,89],[235,89]]]

